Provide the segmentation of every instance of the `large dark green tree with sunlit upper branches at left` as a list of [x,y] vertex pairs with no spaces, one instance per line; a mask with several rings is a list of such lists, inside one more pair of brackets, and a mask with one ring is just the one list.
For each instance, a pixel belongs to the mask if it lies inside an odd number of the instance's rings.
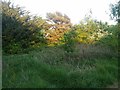
[[45,42],[42,34],[41,17],[32,18],[28,11],[11,2],[2,1],[2,41],[6,53],[24,52],[26,49]]

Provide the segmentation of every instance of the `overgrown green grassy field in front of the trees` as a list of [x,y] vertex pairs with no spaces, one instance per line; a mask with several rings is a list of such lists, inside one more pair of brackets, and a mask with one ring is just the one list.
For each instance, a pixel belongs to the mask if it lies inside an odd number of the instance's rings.
[[3,88],[97,88],[117,83],[118,59],[108,48],[77,46],[66,54],[46,47],[3,55]]

